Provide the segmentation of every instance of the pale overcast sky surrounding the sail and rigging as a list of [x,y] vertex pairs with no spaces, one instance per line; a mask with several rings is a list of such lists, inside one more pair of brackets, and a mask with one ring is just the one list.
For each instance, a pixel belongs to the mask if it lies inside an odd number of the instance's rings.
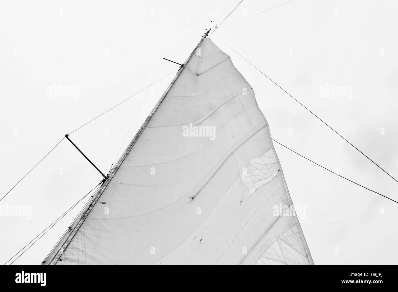
[[[205,29],[220,23],[238,2],[3,1],[0,197],[65,133],[171,72],[173,67],[162,58],[192,41],[168,56],[185,62]],[[392,178],[215,37],[398,178],[398,2],[293,0],[228,25],[283,2],[244,0],[211,36],[212,41],[230,55],[254,88],[274,139],[398,200],[398,184]],[[107,173],[175,73],[152,86],[153,95],[142,91],[70,138]],[[78,87],[79,99],[47,97],[47,87],[53,84]],[[320,87],[326,84],[352,86],[352,99],[321,97]],[[293,135],[289,135],[289,128]],[[380,135],[380,128],[384,128],[384,135]],[[293,203],[306,208],[300,224],[314,263],[397,263],[398,204],[322,170],[276,143],[275,148]],[[64,139],[0,202],[32,206],[30,220],[0,217],[0,263],[100,180],[100,174]],[[15,263],[41,263],[83,205],[73,209]]]

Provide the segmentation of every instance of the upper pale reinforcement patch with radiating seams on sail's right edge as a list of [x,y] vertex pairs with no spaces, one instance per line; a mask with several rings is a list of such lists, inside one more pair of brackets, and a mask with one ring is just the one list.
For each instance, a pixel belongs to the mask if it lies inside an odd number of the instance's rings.
[[243,184],[249,191],[249,196],[257,189],[273,180],[281,168],[275,157],[273,149],[269,149],[260,157],[256,157],[243,169],[240,176]]

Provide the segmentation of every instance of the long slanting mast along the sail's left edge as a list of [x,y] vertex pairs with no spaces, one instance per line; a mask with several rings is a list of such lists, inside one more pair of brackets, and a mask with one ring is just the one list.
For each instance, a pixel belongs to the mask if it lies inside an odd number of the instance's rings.
[[131,140],[130,144],[127,146],[126,150],[124,151],[123,155],[119,158],[115,166],[111,169],[109,173],[109,178],[103,181],[101,184],[100,188],[96,191],[96,193],[93,195],[92,199],[87,203],[87,205],[84,207],[83,211],[80,213],[80,215],[72,222],[71,226],[69,227],[68,232],[58,242],[58,244],[53,248],[53,250],[49,253],[49,255],[45,258],[45,260],[42,262],[42,265],[55,265],[57,261],[60,259],[62,256],[63,251],[68,247],[76,233],[78,232],[79,228],[82,226],[84,220],[88,217],[98,200],[100,199],[101,195],[109,185],[110,181],[112,180],[113,176],[116,174],[117,170],[120,168],[121,164],[123,161],[126,159],[127,155],[129,155],[131,149],[133,149],[133,146],[139,139],[142,131],[146,128],[148,125],[149,121],[151,120],[152,116],[155,114],[156,110],[158,110],[160,104],[164,99],[166,98],[168,92],[170,91],[171,87],[174,85],[176,80],[178,79],[179,75],[185,68],[186,64],[188,64],[189,60],[193,56],[193,54],[196,52],[197,48],[203,43],[203,41],[206,39],[207,35],[209,35],[210,29],[202,36],[201,40],[199,43],[195,46],[194,50],[191,52],[191,54],[188,56],[187,60],[184,62],[184,64],[179,68],[176,76],[170,83],[170,85],[167,87],[166,91],[163,93],[162,97],[160,97],[159,101],[156,103],[152,111],[150,112],[149,116],[146,118],[140,129],[137,131],[135,134],[133,140]]

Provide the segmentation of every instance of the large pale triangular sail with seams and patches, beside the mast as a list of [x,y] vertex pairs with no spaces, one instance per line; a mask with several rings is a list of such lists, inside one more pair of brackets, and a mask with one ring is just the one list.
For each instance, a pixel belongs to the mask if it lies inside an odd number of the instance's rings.
[[206,37],[45,264],[313,263],[254,91]]

